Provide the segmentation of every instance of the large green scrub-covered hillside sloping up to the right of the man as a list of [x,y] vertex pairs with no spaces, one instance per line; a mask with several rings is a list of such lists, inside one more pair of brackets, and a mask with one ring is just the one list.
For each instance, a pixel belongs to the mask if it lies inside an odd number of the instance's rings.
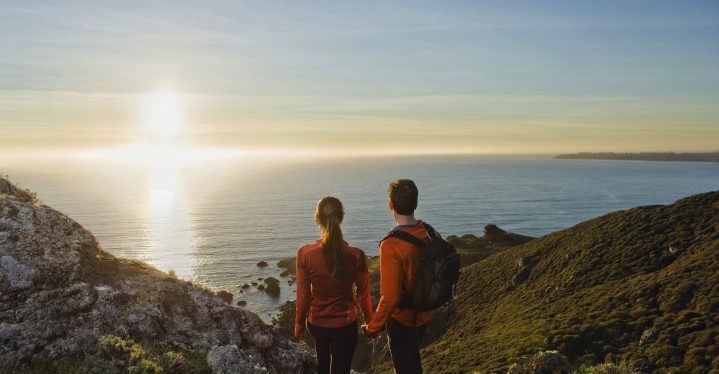
[[427,372],[501,371],[549,349],[577,369],[719,372],[719,192],[535,239],[465,268],[460,285]]

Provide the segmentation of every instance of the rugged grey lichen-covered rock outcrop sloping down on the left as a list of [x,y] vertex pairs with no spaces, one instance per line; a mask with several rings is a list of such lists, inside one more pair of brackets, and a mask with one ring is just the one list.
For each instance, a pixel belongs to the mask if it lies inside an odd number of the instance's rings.
[[105,335],[209,351],[217,372],[314,370],[304,346],[256,314],[112,256],[77,222],[0,178],[0,369],[87,354]]

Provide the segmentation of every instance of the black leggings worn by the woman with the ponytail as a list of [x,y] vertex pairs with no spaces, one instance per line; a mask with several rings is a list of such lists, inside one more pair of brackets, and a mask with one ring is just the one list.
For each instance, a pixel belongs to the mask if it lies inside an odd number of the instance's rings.
[[307,330],[315,338],[317,372],[349,374],[357,346],[357,320],[343,327],[319,327],[308,322]]

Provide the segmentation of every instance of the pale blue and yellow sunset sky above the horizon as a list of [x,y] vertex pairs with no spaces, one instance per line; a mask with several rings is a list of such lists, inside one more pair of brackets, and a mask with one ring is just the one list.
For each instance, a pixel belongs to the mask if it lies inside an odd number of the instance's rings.
[[0,150],[147,141],[158,92],[196,147],[717,151],[719,2],[0,2]]

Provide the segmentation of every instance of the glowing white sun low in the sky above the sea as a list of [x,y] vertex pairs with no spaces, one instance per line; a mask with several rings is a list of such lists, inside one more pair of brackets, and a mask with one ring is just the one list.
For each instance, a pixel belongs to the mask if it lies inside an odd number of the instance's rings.
[[184,131],[182,96],[172,89],[143,99],[141,130],[151,145],[176,145]]

